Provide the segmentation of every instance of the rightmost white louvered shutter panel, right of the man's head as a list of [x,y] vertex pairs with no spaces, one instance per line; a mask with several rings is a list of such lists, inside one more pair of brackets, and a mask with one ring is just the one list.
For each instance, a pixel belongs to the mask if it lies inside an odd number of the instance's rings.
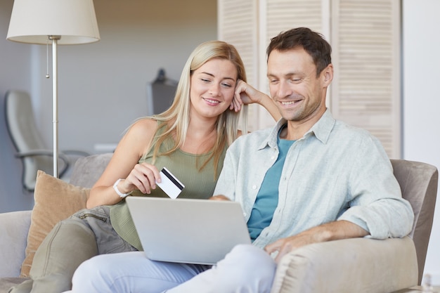
[[335,118],[377,136],[389,157],[401,156],[400,4],[332,1],[331,110]]

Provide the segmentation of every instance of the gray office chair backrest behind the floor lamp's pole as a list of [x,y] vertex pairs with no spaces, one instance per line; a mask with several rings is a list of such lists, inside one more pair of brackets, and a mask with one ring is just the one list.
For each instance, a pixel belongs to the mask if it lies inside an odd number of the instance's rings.
[[[6,127],[18,155],[35,150],[47,150],[36,126],[30,95],[25,91],[8,91],[5,97]],[[22,183],[34,190],[37,170],[48,174],[53,171],[50,156],[20,157],[23,164]]]

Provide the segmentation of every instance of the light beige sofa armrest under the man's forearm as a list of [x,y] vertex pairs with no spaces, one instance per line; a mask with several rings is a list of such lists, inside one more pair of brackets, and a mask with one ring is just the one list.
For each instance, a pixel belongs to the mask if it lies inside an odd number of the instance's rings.
[[410,237],[352,238],[306,245],[285,255],[271,293],[386,293],[417,282]]

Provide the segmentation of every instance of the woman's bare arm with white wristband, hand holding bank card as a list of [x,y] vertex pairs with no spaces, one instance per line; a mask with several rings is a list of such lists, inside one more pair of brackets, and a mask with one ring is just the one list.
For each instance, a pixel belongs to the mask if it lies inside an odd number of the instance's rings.
[[91,188],[87,208],[120,202],[122,197],[113,188],[119,178],[123,179],[117,185],[120,193],[133,190],[150,193],[155,188],[155,181],[160,179],[159,171],[151,164],[138,164],[138,161],[150,147],[156,129],[157,122],[153,119],[138,120],[130,127],[119,141],[105,171]]

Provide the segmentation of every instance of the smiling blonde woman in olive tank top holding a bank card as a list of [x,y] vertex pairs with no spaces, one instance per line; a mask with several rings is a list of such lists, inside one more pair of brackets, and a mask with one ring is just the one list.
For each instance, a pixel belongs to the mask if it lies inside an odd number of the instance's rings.
[[162,167],[185,185],[179,197],[211,197],[226,148],[241,134],[242,103],[259,103],[280,117],[272,100],[245,81],[242,60],[230,44],[207,41],[195,48],[169,110],[129,128],[91,189],[87,209],[53,228],[34,256],[32,279],[10,292],[63,292],[86,259],[141,250],[124,197],[166,197],[156,188]]

